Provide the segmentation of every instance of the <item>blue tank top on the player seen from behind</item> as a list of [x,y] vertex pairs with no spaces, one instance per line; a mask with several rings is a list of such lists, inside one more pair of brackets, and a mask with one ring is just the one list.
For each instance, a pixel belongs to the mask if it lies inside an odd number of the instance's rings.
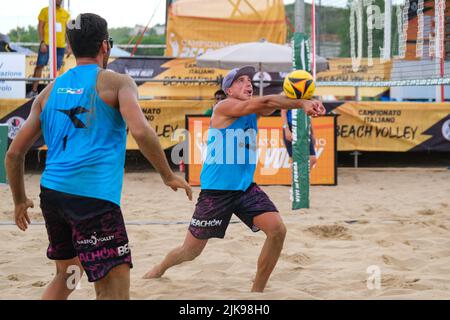
[[120,205],[126,124],[97,94],[100,70],[77,66],[55,80],[40,116],[48,147],[41,184]]

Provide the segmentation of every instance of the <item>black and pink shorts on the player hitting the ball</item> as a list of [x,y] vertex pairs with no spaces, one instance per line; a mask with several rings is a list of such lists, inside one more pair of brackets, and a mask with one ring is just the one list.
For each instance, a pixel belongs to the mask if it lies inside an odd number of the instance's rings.
[[234,213],[253,232],[257,232],[259,228],[253,224],[253,218],[266,212],[278,210],[256,183],[245,191],[202,190],[189,231],[197,239],[223,238]]

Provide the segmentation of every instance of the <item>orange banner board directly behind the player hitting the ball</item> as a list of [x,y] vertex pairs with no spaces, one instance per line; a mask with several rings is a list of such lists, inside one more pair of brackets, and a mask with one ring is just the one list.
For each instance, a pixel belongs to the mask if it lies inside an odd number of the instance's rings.
[[[187,116],[189,158],[186,171],[187,181],[200,185],[202,162],[206,156],[209,117]],[[335,117],[325,116],[312,119],[316,138],[317,164],[311,170],[312,185],[335,185],[336,136]],[[258,162],[255,182],[261,185],[291,185],[291,159],[283,143],[281,117],[261,117],[258,120]]]

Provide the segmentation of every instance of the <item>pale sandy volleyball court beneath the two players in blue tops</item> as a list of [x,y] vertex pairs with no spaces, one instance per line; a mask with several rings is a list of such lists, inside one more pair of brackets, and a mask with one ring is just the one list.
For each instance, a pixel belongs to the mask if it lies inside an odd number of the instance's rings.
[[[133,299],[449,299],[450,170],[339,168],[339,185],[311,188],[309,210],[290,210],[288,187],[263,187],[288,234],[266,291],[250,293],[264,235],[233,223],[195,261],[161,279],[142,275],[184,239],[195,201],[174,193],[154,172],[127,173],[123,189],[134,268]],[[27,174],[28,196],[39,210],[39,174]],[[194,197],[199,193],[195,188]],[[0,186],[0,223],[12,221],[9,188]],[[155,224],[136,225],[139,221]],[[161,224],[163,223],[163,224]],[[52,279],[43,225],[23,233],[0,225],[0,299],[38,299]],[[367,287],[369,266],[381,288]],[[93,299],[83,278],[72,299]]]

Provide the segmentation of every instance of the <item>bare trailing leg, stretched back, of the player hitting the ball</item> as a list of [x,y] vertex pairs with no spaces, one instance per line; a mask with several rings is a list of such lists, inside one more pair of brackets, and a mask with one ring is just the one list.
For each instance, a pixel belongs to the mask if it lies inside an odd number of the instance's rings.
[[188,231],[183,245],[170,251],[160,264],[144,275],[144,279],[160,278],[167,269],[185,261],[194,260],[203,251],[207,242],[207,239],[197,239]]

